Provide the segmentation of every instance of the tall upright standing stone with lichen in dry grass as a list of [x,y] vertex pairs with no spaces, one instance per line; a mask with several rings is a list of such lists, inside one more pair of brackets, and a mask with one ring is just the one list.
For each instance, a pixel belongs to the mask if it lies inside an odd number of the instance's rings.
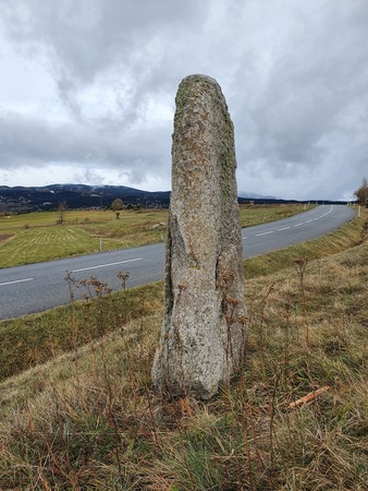
[[241,367],[246,338],[234,131],[209,76],[184,79],[175,103],[165,312],[152,384],[207,399]]

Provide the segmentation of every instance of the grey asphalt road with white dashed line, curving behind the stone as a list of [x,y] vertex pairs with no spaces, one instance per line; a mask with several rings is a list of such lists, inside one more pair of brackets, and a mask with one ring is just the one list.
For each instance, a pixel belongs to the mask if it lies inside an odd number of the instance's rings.
[[[243,256],[252,258],[323,236],[355,216],[343,205],[322,205],[308,212],[242,230]],[[70,302],[65,282],[96,276],[116,290],[119,272],[128,272],[127,287],[163,279],[164,244],[143,246],[112,252],[0,270],[0,320],[41,312]],[[75,290],[75,298],[85,292]]]

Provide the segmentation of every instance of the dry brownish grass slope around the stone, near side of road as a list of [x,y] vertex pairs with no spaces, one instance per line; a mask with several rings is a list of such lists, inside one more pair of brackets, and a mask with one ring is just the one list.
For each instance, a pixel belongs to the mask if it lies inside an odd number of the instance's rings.
[[367,229],[245,261],[244,370],[207,403],[150,390],[162,284],[1,322],[0,489],[366,490]]

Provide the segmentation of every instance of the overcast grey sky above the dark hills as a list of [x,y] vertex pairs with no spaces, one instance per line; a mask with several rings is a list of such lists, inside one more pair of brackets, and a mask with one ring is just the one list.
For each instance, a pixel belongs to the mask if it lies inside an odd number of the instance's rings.
[[0,0],[0,185],[171,189],[175,94],[220,84],[238,194],[368,178],[367,0]]

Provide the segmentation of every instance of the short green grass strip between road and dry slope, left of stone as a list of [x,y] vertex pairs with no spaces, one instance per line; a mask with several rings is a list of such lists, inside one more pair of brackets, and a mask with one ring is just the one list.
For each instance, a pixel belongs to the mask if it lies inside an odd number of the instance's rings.
[[0,381],[162,310],[160,283],[114,295],[94,278],[82,283],[86,301],[0,322]]

